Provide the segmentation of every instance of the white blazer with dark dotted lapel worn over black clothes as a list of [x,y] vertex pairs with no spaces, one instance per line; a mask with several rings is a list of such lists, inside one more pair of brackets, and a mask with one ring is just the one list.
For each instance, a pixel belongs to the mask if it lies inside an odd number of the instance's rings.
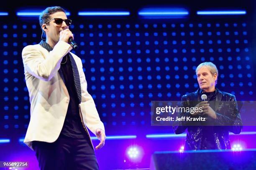
[[[62,57],[71,49],[68,43],[59,41],[50,52],[39,44],[28,45],[22,51],[24,74],[31,103],[31,117],[24,143],[32,150],[32,141],[53,143],[61,133],[69,105],[69,93],[58,70]],[[96,135],[97,128],[103,131],[105,128],[100,121],[92,96],[87,92],[82,61],[77,55],[71,54],[80,76],[82,101],[79,104],[79,114],[87,133],[89,128]]]

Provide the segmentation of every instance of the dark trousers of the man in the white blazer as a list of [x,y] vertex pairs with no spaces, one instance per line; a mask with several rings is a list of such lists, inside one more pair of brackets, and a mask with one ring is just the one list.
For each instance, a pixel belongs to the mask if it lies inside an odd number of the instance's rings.
[[41,170],[99,170],[90,139],[60,135],[54,143],[33,141]]

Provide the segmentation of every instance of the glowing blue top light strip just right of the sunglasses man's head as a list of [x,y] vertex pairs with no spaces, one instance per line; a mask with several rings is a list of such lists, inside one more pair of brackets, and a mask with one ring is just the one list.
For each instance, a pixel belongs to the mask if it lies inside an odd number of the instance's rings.
[[81,16],[123,16],[130,15],[128,11],[99,11],[99,12],[78,12],[78,15]]

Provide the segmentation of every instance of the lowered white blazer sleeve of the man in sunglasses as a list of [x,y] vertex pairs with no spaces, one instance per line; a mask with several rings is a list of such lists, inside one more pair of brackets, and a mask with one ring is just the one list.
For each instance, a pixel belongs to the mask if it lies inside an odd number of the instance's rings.
[[100,120],[100,116],[97,112],[95,102],[92,96],[87,91],[87,81],[82,68],[82,61],[79,59],[79,70],[80,73],[80,83],[81,83],[81,107],[86,110],[86,116],[84,117],[86,126],[90,129],[92,133],[96,135],[96,130],[99,128],[105,132],[104,124]]

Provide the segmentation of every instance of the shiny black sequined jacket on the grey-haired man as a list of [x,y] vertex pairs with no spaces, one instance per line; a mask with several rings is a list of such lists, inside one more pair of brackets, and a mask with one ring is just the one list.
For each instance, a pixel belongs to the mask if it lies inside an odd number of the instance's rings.
[[[175,134],[184,133],[187,129],[187,137],[184,150],[230,149],[229,132],[239,134],[242,130],[241,116],[238,110],[236,97],[227,92],[221,92],[218,88],[215,108],[217,119],[211,126],[189,125],[186,122],[175,122],[173,129]],[[228,101],[228,102],[226,102]],[[182,96],[183,107],[194,107],[200,102],[200,89]],[[189,112],[183,112],[180,116],[191,116]],[[205,140],[211,139],[209,145]]]

